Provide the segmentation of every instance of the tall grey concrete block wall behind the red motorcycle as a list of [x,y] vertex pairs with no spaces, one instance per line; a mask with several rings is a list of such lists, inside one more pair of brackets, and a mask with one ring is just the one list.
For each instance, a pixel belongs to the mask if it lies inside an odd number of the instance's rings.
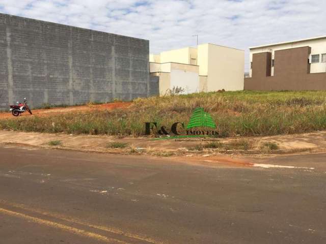
[[0,109],[132,100],[159,93],[149,41],[0,14]]

